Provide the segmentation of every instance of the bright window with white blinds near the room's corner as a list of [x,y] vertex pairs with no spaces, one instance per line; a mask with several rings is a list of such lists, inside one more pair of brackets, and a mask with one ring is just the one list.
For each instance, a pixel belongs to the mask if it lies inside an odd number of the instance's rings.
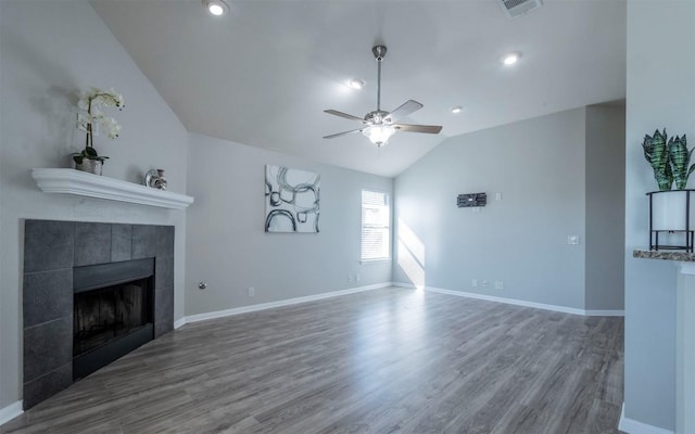
[[362,191],[362,260],[391,257],[391,209],[389,194]]

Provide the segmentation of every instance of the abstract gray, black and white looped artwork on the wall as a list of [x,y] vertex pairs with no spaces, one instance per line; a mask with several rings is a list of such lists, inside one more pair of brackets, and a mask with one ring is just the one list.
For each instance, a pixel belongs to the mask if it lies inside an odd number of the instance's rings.
[[320,175],[265,166],[265,231],[318,232]]

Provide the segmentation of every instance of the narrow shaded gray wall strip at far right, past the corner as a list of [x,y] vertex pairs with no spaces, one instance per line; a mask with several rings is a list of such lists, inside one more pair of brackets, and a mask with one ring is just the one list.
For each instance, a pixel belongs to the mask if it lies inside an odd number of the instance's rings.
[[626,108],[586,107],[585,308],[622,310]]

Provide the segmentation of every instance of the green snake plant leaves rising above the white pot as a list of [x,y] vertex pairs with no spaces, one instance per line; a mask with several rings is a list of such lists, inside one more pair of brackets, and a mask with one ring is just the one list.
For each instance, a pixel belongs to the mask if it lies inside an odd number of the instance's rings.
[[652,164],[660,191],[671,190],[673,181],[677,190],[684,190],[687,178],[695,170],[695,164],[688,168],[693,150],[687,150],[685,135],[667,140],[666,129],[664,132],[657,129],[653,136],[645,135],[642,142],[644,157]]

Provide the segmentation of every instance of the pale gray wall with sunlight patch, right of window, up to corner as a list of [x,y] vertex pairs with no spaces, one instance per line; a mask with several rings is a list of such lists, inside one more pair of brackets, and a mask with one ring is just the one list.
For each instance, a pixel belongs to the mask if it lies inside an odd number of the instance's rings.
[[[584,136],[578,108],[451,138],[415,163],[395,181],[394,281],[424,272],[427,286],[583,309]],[[485,207],[456,207],[477,192]]]

